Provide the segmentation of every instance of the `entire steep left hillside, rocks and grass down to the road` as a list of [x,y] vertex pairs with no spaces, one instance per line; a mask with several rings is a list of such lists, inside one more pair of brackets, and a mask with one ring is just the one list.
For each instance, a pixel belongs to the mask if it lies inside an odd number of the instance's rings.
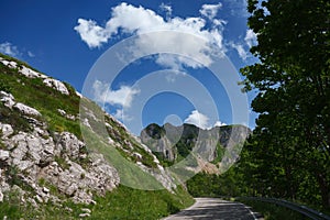
[[2,54],[0,79],[0,219],[157,219],[193,202],[70,85]]

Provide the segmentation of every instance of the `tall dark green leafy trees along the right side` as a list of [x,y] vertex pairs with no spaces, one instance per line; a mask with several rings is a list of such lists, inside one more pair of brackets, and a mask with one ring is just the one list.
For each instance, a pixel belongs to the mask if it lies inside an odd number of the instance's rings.
[[249,0],[248,9],[258,42],[251,52],[260,62],[241,73],[245,90],[258,91],[252,108],[260,117],[248,146],[258,191],[320,195],[330,208],[330,2]]

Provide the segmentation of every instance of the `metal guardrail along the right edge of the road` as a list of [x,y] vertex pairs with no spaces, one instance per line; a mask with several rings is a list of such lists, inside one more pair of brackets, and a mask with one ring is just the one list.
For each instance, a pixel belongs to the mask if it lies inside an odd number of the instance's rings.
[[310,219],[315,219],[315,220],[330,220],[330,217],[320,212],[320,211],[316,211],[314,209],[310,209],[306,206],[301,206],[298,204],[294,204],[292,201],[287,201],[284,199],[275,199],[275,198],[262,198],[262,197],[240,197],[242,199],[249,199],[249,200],[258,200],[258,201],[265,201],[265,202],[270,202],[270,204],[276,204],[278,206],[283,206],[286,208],[289,208],[292,210],[295,210]]

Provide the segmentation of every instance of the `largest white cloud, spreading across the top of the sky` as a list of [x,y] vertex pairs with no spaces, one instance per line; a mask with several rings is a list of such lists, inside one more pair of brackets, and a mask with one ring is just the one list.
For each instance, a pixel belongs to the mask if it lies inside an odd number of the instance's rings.
[[[216,4],[218,6],[218,4]],[[220,6],[220,4],[219,4]],[[219,8],[218,6],[218,8]],[[165,7],[165,4],[163,6]],[[169,8],[167,7],[167,10]],[[170,9],[172,10],[172,9]],[[210,16],[211,16],[210,12]],[[218,21],[218,23],[221,21]],[[156,14],[150,9],[143,7],[134,7],[128,3],[121,3],[111,10],[111,18],[102,28],[95,21],[87,21],[85,19],[78,20],[78,25],[75,30],[80,34],[80,37],[90,48],[99,47],[107,43],[109,38],[116,37],[119,33],[136,34],[138,36],[143,33],[161,32],[161,31],[176,31],[177,33],[184,32],[205,40],[196,41],[196,38],[187,38],[183,34],[163,34],[163,35],[148,35],[138,37],[135,45],[133,45],[134,56],[139,57],[139,53],[143,54],[152,48],[155,51],[170,51],[168,48],[176,48],[179,54],[187,57],[197,57],[202,63],[198,64],[187,58],[170,58],[162,57],[162,54],[156,56],[157,63],[165,67],[178,67],[177,64],[197,68],[201,66],[209,66],[212,63],[215,51],[218,52],[217,56],[221,53],[224,54],[222,45],[221,29],[218,25],[208,29],[206,20],[202,18],[186,18],[178,16],[165,21],[161,15]],[[162,40],[160,40],[160,36]],[[219,51],[221,53],[219,53]],[[166,61],[167,59],[167,61]]]

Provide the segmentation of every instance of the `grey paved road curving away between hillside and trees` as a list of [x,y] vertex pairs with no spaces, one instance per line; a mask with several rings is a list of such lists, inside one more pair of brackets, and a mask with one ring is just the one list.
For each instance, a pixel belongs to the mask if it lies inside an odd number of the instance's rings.
[[196,198],[194,206],[164,220],[255,220],[253,212],[243,204],[231,202],[218,198]]

